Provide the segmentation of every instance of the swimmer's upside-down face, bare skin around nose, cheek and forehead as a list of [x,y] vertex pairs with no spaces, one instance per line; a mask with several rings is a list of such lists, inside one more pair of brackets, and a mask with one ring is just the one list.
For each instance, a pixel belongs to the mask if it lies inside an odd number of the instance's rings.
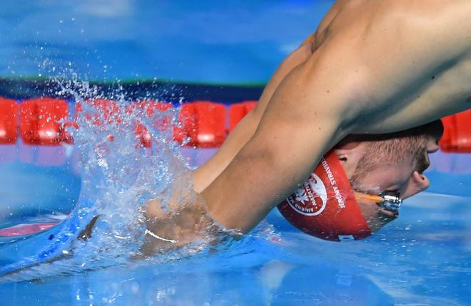
[[[365,154],[366,149],[368,149],[366,144],[358,143],[355,144],[355,147],[350,148],[348,152],[342,149],[338,150],[340,151],[338,157],[343,162],[345,172],[349,177],[353,175],[358,160]],[[352,182],[353,186],[356,190],[365,194],[382,194],[387,191],[397,193],[400,195],[400,199],[418,194],[430,186],[430,181],[423,172],[430,166],[429,154],[437,150],[437,142],[430,140],[421,153],[422,158],[419,159],[415,168],[411,167],[411,164],[413,164],[412,156],[400,162],[378,164],[368,174],[358,176]],[[397,218],[397,213],[383,209],[373,202],[360,202],[359,204],[363,216],[373,232],[378,231],[386,223]]]

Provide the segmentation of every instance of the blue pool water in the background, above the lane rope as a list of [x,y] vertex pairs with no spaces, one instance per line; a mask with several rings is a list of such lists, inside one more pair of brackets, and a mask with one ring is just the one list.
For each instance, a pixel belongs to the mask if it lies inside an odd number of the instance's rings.
[[332,3],[5,0],[0,76],[265,83]]

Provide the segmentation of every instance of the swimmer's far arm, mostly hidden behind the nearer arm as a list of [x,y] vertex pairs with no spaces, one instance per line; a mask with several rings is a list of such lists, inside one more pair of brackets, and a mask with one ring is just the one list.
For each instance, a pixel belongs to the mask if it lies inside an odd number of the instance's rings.
[[314,34],[306,38],[299,48],[283,60],[283,63],[278,66],[277,70],[270,78],[270,81],[265,86],[255,108],[249,112],[243,120],[240,120],[221,148],[218,149],[218,152],[216,152],[208,162],[193,172],[194,189],[196,192],[201,192],[206,189],[206,187],[221,174],[223,169],[228,166],[237,152],[239,152],[240,148],[253,136],[273,92],[278,88],[281,80],[283,80],[295,66],[303,63],[308,56],[310,56],[313,40]]

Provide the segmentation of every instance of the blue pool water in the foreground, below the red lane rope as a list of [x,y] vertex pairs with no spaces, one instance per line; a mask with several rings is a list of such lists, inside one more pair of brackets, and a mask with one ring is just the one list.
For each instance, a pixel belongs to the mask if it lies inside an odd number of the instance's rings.
[[[14,147],[24,151],[21,144]],[[44,147],[28,149],[34,154],[27,162],[15,155],[0,164],[2,177],[10,178],[1,181],[1,194],[16,195],[3,206],[4,221],[61,216],[78,197],[74,152],[67,157],[64,149],[66,162],[48,166],[39,159]],[[213,152],[184,154],[194,165]],[[320,241],[273,211],[245,239],[216,253],[71,275],[45,265],[6,277],[2,305],[467,305],[470,164],[470,155],[434,154],[430,189],[407,200],[397,221],[364,241]]]

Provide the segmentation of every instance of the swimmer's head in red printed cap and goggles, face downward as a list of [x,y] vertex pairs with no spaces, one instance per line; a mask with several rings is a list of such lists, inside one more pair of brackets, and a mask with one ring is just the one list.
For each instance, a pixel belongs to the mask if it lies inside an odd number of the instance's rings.
[[394,134],[347,137],[278,209],[318,238],[368,237],[397,217],[401,199],[427,189],[423,172],[442,132],[437,121]]

